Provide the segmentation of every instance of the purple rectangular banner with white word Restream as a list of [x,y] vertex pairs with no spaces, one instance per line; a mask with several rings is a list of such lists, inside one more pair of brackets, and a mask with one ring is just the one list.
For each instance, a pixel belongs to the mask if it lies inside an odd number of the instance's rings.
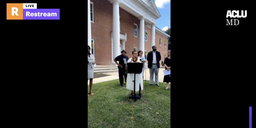
[[60,20],[60,9],[23,9],[23,20]]

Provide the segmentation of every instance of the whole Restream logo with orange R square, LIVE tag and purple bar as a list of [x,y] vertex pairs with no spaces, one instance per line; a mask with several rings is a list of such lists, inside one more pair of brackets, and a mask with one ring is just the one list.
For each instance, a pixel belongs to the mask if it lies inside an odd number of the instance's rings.
[[60,9],[37,9],[36,3],[7,3],[6,20],[60,20]]

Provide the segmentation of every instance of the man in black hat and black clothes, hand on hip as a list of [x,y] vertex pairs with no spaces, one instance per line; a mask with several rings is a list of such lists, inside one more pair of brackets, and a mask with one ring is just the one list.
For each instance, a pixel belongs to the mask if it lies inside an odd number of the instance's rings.
[[[116,64],[118,65],[118,74],[119,74],[119,81],[122,87],[124,87],[124,80],[126,83],[126,78],[127,75],[125,74],[125,64],[127,63],[127,61],[129,60],[128,56],[126,56],[126,52],[123,50],[121,52],[122,54],[117,56],[114,61],[116,62]],[[117,61],[119,61],[119,64],[117,63]]]

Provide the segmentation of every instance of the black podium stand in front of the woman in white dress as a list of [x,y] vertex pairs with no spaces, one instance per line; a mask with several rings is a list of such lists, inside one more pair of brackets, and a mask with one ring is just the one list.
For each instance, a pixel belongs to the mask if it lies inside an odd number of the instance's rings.
[[132,81],[134,83],[134,90],[133,90],[134,96],[129,97],[129,99],[134,99],[134,101],[137,101],[137,99],[140,99],[140,96],[136,95],[136,93],[135,93],[135,76],[136,76],[136,74],[141,74],[143,64],[144,63],[138,63],[138,62],[137,63],[135,63],[135,62],[127,63],[127,74],[128,73],[134,74],[134,80]]

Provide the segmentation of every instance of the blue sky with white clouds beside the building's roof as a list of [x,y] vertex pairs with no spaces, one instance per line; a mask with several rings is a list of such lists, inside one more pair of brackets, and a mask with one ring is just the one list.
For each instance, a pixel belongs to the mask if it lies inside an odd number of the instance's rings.
[[171,0],[154,0],[154,2],[161,15],[156,20],[156,27],[161,30],[171,28]]

